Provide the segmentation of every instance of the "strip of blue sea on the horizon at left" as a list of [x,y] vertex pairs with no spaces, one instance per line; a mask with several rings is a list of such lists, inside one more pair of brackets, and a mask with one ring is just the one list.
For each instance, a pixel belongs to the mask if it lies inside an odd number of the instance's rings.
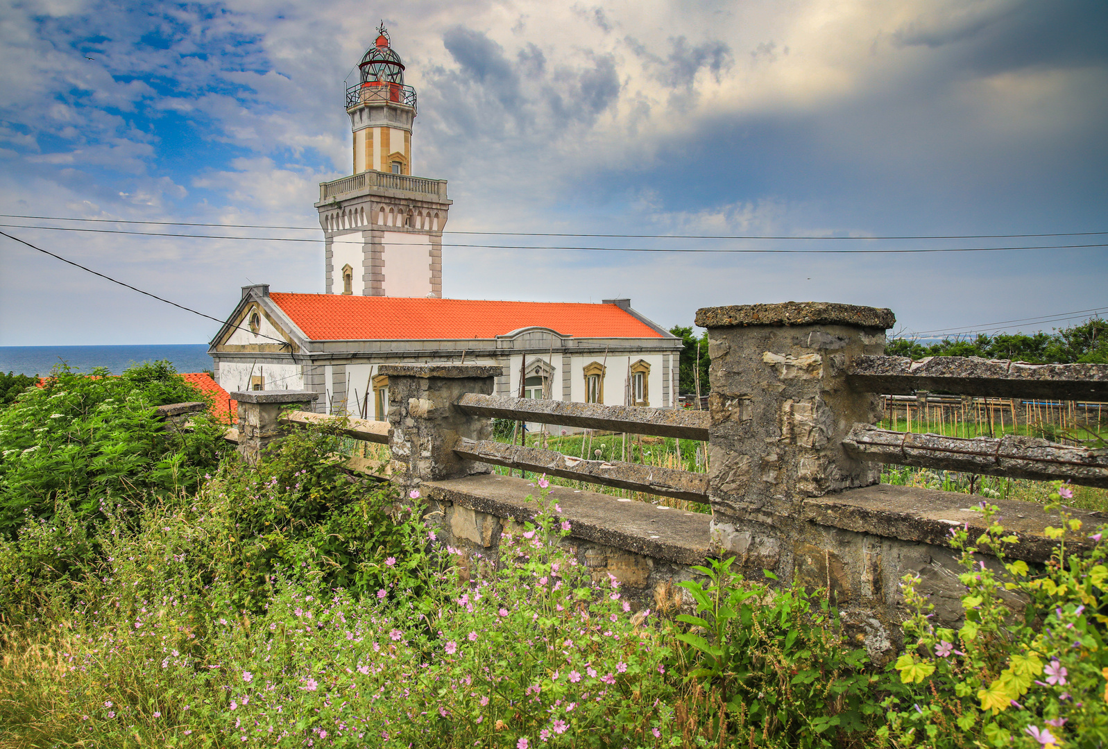
[[0,372],[49,374],[59,361],[76,371],[106,367],[113,374],[144,361],[168,359],[178,372],[212,369],[207,343],[174,346],[0,346]]

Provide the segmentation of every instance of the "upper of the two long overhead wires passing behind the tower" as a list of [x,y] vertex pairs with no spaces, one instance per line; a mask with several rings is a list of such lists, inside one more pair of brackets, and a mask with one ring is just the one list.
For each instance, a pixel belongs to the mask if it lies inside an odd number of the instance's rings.
[[[288,229],[297,232],[318,232],[318,226],[277,226],[270,224],[205,224],[199,222],[154,222],[154,220],[125,220],[121,218],[73,218],[65,216],[24,216],[21,214],[0,214],[2,218],[34,218],[38,220],[64,220],[64,222],[95,222],[102,224],[150,224],[156,226],[211,226],[215,228],[240,228],[240,229]],[[49,227],[32,227],[49,228]],[[443,230],[443,234],[465,234],[478,236],[505,236],[505,237],[601,237],[613,239],[827,239],[827,240],[852,240],[861,242],[865,239],[1013,239],[1018,237],[1085,237],[1106,235],[1108,232],[1048,232],[1044,234],[946,234],[946,235],[890,235],[871,237],[828,237],[817,235],[742,235],[742,234],[583,234],[572,232],[453,232]]]

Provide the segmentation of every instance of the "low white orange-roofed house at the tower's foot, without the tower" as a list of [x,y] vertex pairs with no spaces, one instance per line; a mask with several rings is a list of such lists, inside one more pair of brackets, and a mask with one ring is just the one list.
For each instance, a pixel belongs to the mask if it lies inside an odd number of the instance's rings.
[[671,408],[681,340],[630,307],[269,293],[243,298],[213,339],[227,391],[310,390],[324,413],[383,419],[380,365],[500,367],[496,393]]

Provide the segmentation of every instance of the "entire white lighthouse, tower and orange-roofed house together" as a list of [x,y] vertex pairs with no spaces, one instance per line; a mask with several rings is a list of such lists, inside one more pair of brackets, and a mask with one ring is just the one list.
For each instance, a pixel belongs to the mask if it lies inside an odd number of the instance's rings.
[[243,288],[212,340],[225,390],[311,390],[384,418],[383,363],[495,365],[502,396],[670,408],[680,339],[630,308],[442,299],[447,183],[413,177],[416,92],[383,28],[347,91],[353,174],[320,187],[326,294]]

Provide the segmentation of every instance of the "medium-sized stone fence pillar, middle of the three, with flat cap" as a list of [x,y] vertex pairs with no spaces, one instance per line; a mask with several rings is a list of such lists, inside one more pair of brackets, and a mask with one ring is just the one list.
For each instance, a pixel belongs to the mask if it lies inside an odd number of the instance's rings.
[[392,480],[406,492],[423,481],[489,473],[484,463],[454,454],[460,437],[491,440],[492,420],[454,406],[468,392],[493,394],[500,367],[474,365],[382,365],[389,378],[389,449]]

